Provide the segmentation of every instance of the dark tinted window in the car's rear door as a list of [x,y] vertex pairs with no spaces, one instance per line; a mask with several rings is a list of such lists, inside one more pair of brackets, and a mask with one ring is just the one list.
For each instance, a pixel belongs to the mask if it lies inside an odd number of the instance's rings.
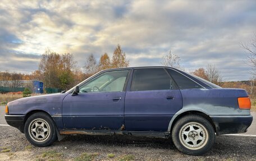
[[176,86],[163,68],[135,69],[132,77],[131,90],[166,90]]

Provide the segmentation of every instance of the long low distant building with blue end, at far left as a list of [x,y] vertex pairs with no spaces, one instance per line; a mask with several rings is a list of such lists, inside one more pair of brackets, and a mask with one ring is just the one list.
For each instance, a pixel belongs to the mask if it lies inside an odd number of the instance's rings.
[[0,88],[8,91],[29,88],[33,93],[43,93],[43,82],[39,80],[0,81]]

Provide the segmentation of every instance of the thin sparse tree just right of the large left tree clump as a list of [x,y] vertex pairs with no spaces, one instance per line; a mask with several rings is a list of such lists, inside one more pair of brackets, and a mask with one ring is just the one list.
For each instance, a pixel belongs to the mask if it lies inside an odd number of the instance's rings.
[[85,74],[90,76],[98,72],[97,61],[93,54],[90,54],[87,57],[84,69],[85,69]]

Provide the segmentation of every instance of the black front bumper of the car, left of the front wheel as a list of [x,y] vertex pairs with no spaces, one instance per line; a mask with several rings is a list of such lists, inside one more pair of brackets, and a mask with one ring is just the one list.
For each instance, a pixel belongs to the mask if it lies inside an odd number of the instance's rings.
[[22,133],[24,132],[24,119],[25,119],[25,115],[6,114],[4,116],[4,118],[6,119],[6,122],[8,123],[8,125],[16,127]]

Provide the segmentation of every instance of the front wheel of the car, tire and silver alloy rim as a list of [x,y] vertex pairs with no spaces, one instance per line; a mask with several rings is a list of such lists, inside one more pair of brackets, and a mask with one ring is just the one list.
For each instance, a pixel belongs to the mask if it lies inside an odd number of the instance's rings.
[[43,112],[34,113],[26,120],[24,133],[35,146],[49,146],[57,139],[53,119]]

